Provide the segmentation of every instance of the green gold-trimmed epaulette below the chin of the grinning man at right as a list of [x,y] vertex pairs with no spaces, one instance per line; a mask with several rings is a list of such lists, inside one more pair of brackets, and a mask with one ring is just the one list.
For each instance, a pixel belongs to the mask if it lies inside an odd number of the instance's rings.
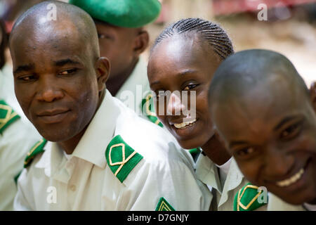
[[235,195],[234,211],[253,211],[267,203],[259,203],[258,197],[263,190],[258,191],[258,187],[250,183],[242,187]]

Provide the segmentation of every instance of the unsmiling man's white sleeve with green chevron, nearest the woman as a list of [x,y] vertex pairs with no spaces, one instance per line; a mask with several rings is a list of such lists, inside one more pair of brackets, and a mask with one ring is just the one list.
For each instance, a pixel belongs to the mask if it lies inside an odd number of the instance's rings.
[[211,193],[180,160],[142,162],[124,181],[118,210],[209,210]]

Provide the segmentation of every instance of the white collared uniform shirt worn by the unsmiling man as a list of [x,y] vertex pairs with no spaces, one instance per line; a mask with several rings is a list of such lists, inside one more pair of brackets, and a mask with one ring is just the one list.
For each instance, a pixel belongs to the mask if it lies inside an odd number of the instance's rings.
[[[123,183],[105,159],[118,134],[143,155]],[[69,160],[56,143],[44,149],[18,180],[15,210],[155,210],[160,198],[175,210],[209,210],[189,153],[109,91]]]

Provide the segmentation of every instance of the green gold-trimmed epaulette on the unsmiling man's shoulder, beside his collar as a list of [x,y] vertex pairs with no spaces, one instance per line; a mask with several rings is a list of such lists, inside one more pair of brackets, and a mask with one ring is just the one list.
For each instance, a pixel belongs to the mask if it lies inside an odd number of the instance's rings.
[[131,170],[143,159],[143,156],[133,150],[120,135],[117,135],[107,146],[105,158],[113,174],[123,183]]

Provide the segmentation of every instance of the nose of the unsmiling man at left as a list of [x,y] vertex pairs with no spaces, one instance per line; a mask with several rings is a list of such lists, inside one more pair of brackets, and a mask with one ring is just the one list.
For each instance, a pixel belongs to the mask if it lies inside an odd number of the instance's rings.
[[39,81],[39,87],[37,91],[37,100],[53,102],[55,100],[63,98],[64,94],[62,89],[58,86],[58,83],[49,78],[41,78]]

